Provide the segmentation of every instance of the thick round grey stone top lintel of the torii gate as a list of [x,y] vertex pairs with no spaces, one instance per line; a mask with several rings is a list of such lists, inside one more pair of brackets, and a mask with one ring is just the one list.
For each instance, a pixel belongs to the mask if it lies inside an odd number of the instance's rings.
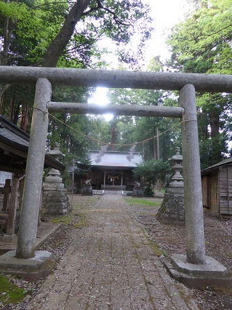
[[196,91],[232,92],[232,75],[0,66],[0,84],[36,84],[39,77],[53,85],[75,87],[179,91],[186,84],[193,84]]

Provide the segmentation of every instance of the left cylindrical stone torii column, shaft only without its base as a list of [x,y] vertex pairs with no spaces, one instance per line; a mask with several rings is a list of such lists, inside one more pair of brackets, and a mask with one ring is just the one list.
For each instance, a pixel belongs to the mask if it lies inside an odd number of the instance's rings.
[[35,256],[42,172],[47,142],[47,102],[50,101],[51,95],[52,84],[45,78],[39,78],[36,83],[29,151],[26,161],[24,194],[16,249],[17,258]]

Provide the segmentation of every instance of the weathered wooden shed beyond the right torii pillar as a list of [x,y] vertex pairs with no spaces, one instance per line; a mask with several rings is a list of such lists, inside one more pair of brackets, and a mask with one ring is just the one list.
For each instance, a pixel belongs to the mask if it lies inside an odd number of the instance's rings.
[[232,215],[232,156],[201,171],[203,207]]

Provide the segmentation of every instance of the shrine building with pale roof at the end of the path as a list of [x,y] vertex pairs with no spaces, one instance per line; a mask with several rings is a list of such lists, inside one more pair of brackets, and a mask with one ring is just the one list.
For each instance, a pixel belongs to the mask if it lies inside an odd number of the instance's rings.
[[124,189],[132,191],[136,179],[132,170],[141,163],[137,152],[90,151],[93,189]]

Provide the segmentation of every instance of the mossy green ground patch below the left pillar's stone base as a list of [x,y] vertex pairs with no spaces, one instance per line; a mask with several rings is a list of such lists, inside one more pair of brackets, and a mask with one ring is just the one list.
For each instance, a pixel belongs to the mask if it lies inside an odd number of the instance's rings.
[[6,276],[0,274],[0,306],[22,302],[26,293],[27,290],[11,283]]

